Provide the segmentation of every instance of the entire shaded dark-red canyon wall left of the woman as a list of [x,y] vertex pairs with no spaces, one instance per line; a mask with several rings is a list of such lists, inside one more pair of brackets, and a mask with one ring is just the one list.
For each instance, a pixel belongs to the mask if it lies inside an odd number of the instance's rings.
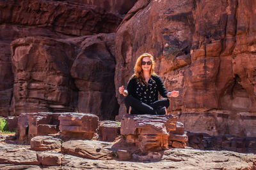
[[0,116],[62,110],[114,119],[115,31],[135,2],[0,1]]

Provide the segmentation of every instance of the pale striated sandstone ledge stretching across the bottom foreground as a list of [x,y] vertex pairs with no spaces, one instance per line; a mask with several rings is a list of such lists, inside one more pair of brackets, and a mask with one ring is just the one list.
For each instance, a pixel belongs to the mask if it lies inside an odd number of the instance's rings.
[[[64,146],[65,145],[65,146]],[[255,154],[227,151],[170,149],[147,155],[133,154],[134,161],[109,160],[111,143],[68,141],[67,153],[35,152],[29,146],[0,143],[1,169],[255,169]],[[61,151],[62,152],[62,151]],[[73,156],[76,154],[76,156]],[[78,157],[77,157],[78,156]],[[98,160],[94,160],[98,159]],[[43,167],[42,167],[43,166]]]

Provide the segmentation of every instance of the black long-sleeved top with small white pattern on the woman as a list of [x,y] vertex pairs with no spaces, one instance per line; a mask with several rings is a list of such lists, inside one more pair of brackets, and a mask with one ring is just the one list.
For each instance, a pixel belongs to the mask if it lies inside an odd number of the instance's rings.
[[140,83],[137,78],[133,77],[128,82],[127,91],[128,95],[147,104],[158,100],[158,92],[163,97],[167,97],[166,94],[168,93],[159,76],[151,76],[148,80],[148,85]]

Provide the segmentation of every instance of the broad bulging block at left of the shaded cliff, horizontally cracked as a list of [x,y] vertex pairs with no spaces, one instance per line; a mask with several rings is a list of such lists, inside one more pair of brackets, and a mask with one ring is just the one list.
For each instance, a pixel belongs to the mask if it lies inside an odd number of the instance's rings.
[[[73,111],[77,92],[70,76],[75,47],[51,38],[12,42],[12,115],[33,111]],[[65,50],[64,50],[65,49]]]

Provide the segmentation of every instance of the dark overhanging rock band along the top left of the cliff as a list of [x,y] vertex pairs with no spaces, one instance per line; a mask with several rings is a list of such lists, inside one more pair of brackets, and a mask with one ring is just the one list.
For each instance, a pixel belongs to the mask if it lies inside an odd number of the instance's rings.
[[75,36],[115,32],[121,22],[120,17],[103,8],[76,1],[7,1],[0,9],[1,23],[36,25]]

